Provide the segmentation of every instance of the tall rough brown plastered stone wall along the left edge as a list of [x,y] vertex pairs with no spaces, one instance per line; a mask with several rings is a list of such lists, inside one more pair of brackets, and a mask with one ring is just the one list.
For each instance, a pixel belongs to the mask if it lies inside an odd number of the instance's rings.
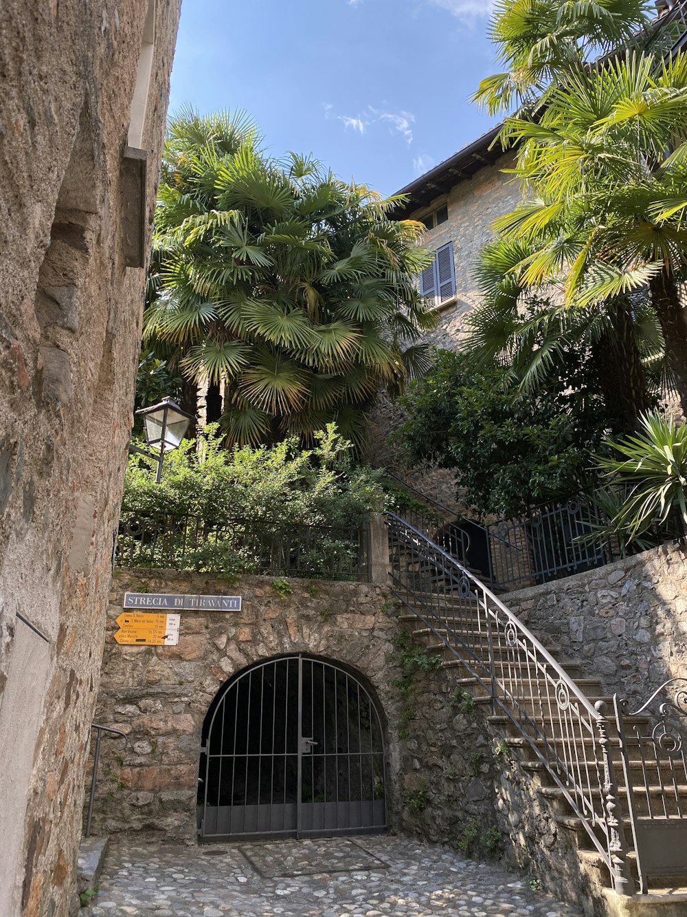
[[[148,225],[179,6],[151,6]],[[125,267],[136,201],[121,168],[147,7],[3,6],[0,912],[12,917],[69,912],[81,836],[145,285]]]

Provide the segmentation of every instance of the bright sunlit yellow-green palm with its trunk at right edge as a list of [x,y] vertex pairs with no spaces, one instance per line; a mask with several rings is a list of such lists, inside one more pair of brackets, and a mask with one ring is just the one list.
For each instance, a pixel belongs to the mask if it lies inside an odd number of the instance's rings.
[[568,72],[539,123],[507,119],[514,170],[536,196],[496,221],[531,249],[514,272],[560,283],[567,307],[603,307],[648,288],[687,410],[687,57],[628,52]]

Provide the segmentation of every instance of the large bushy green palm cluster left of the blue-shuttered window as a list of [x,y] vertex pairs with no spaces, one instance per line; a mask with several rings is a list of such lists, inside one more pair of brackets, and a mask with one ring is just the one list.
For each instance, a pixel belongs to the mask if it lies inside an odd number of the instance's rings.
[[222,386],[230,442],[335,422],[360,446],[379,387],[425,368],[429,256],[394,204],[311,159],[269,159],[245,116],[170,120],[144,334]]

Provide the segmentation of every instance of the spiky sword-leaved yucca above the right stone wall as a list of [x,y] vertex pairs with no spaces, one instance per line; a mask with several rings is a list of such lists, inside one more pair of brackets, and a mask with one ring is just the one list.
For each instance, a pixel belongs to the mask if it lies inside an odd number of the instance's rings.
[[621,458],[600,457],[597,467],[614,487],[627,492],[613,528],[637,541],[653,527],[664,528],[675,514],[687,526],[687,425],[645,414],[640,433],[609,445]]

